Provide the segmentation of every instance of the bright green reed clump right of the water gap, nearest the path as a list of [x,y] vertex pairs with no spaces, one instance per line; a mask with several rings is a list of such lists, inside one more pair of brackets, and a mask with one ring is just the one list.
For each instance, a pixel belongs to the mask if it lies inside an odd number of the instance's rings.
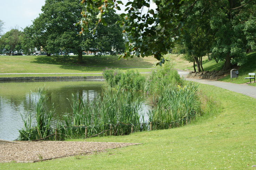
[[177,89],[165,88],[149,117],[154,129],[166,129],[189,123],[200,111],[197,86],[189,83]]

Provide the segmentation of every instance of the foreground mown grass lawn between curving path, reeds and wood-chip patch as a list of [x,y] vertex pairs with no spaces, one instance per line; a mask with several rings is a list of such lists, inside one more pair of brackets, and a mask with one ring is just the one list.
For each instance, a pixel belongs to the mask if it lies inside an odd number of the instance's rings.
[[142,145],[37,163],[1,163],[0,169],[252,169],[256,99],[204,84],[199,91],[218,102],[220,112],[179,128],[74,140]]

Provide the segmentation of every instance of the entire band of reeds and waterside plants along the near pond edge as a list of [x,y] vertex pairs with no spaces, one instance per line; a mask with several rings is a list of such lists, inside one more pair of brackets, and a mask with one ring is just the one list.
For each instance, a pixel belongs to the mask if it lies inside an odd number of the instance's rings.
[[[219,104],[211,97],[200,100],[198,85],[180,78],[172,64],[152,71],[149,77],[128,70],[106,68],[103,76],[106,87],[92,103],[73,94],[70,101],[72,113],[66,113],[64,121],[50,124],[54,107],[47,110],[46,91],[40,89],[35,102],[37,124],[32,126],[31,113],[22,117],[24,127],[19,130],[19,140],[65,140],[108,135],[129,135],[134,131],[158,130],[190,124],[199,117],[218,112]],[[141,113],[142,100],[152,104]]]

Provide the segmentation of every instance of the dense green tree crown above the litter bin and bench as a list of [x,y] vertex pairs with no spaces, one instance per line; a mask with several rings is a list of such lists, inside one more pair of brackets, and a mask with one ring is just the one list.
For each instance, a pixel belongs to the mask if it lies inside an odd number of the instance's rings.
[[[225,60],[223,70],[246,61],[245,52],[255,49],[256,2],[253,0],[209,1],[210,26],[215,37],[212,58]],[[254,24],[253,24],[254,23]]]

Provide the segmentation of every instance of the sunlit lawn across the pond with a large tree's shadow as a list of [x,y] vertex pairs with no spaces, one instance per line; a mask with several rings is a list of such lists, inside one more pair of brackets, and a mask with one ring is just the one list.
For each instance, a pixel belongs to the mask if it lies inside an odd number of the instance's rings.
[[[150,72],[151,69],[148,68],[153,68],[154,62],[157,61],[152,57],[134,58],[129,60],[121,58],[118,60],[118,56],[83,56],[83,60],[85,61],[85,64],[79,65],[77,64],[76,56],[0,56],[0,73],[101,73],[106,67],[118,67],[123,71],[138,68],[135,70],[138,70],[139,72]],[[68,75],[60,74],[58,76]],[[6,77],[6,75],[0,75],[0,77]]]

